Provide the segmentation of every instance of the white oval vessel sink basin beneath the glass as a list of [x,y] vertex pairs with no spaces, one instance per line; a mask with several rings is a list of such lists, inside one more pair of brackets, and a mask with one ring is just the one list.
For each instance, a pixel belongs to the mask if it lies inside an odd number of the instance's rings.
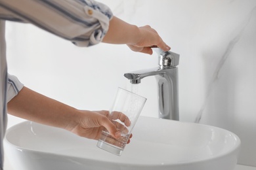
[[233,170],[240,139],[219,127],[140,116],[122,156],[56,127],[22,122],[7,130],[5,154],[16,170]]

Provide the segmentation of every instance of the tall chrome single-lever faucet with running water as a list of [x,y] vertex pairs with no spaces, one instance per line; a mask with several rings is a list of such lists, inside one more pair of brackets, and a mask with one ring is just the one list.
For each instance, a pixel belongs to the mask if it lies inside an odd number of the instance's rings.
[[179,54],[155,50],[159,57],[159,67],[125,73],[132,84],[139,84],[146,76],[156,76],[158,83],[159,118],[179,120],[178,68]]

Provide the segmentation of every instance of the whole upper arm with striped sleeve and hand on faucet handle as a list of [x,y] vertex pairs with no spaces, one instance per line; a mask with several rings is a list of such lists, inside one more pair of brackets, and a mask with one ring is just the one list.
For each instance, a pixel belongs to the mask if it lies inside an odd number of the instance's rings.
[[91,46],[103,40],[127,44],[131,50],[147,54],[152,54],[153,45],[170,50],[150,26],[128,24],[96,1],[0,0],[0,18],[31,23],[77,46]]

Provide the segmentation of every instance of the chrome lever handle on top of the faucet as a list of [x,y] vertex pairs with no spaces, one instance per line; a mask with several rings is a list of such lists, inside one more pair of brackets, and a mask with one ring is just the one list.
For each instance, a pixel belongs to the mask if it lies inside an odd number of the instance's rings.
[[164,52],[160,48],[154,48],[158,54],[158,61],[161,67],[176,67],[179,65],[180,55],[171,51]]

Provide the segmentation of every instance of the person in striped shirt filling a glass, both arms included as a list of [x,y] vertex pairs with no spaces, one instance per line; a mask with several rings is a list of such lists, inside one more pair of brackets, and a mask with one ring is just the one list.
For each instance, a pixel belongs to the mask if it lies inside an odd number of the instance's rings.
[[149,25],[137,27],[128,24],[113,16],[106,5],[96,1],[0,0],[0,18],[0,169],[3,169],[2,142],[7,110],[14,116],[67,129],[89,139],[98,139],[104,127],[112,136],[120,136],[108,119],[108,111],[77,110],[33,92],[7,73],[5,20],[37,25],[77,46],[106,42],[127,44],[131,50],[146,54],[152,54],[150,46],[170,50]]

